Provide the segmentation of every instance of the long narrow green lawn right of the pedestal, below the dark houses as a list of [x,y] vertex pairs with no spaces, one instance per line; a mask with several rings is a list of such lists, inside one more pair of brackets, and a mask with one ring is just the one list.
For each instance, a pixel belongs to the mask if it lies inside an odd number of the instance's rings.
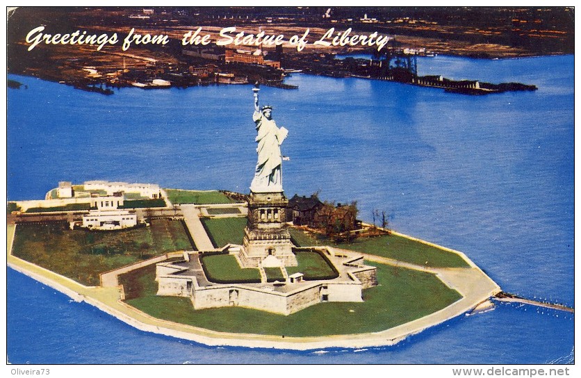
[[437,268],[468,268],[470,266],[464,261],[464,258],[454,252],[448,252],[402,236],[383,235],[375,238],[357,238],[351,243],[333,243],[323,236],[319,236],[317,240],[313,236],[292,227],[289,228],[289,231],[291,231],[293,241],[300,246],[330,245]]

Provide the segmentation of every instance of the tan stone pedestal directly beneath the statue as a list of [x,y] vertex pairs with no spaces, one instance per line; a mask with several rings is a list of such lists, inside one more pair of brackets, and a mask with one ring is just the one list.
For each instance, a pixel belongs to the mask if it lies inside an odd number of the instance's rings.
[[[288,199],[281,192],[250,192],[248,222],[240,261],[246,267],[257,267],[268,256],[284,266],[296,266],[291,234],[284,227]],[[272,259],[272,258],[271,258]]]

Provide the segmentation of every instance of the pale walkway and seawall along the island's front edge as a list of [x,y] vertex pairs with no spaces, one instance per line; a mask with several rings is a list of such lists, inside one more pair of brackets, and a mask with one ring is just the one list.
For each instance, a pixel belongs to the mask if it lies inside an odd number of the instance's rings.
[[[475,309],[482,302],[486,302],[489,297],[496,295],[500,292],[500,287],[494,283],[480,268],[477,267],[465,254],[461,252],[454,251],[453,249],[448,249],[445,247],[438,246],[448,251],[455,252],[464,258],[470,265],[470,269],[464,268],[464,271],[469,275],[473,276],[477,274],[480,280],[487,281],[489,286],[488,290],[484,290],[485,293],[478,293],[477,299],[474,299],[473,293],[470,295],[473,297],[471,299],[466,298],[465,293],[461,293],[462,298],[457,302],[450,304],[449,306],[436,311],[432,314],[426,315],[423,318],[413,320],[404,324],[400,324],[391,329],[386,329],[384,331],[373,332],[368,334],[347,334],[347,335],[332,335],[332,336],[312,336],[312,337],[284,337],[284,336],[272,336],[272,335],[259,335],[259,334],[231,334],[227,332],[212,331],[209,329],[203,329],[199,327],[193,327],[187,324],[179,324],[175,322],[169,322],[167,320],[161,320],[158,318],[153,318],[146,313],[142,313],[133,306],[122,302],[122,289],[120,287],[115,288],[104,288],[101,286],[83,286],[72,279],[63,277],[60,274],[56,274],[47,270],[45,268],[39,267],[33,263],[28,263],[21,258],[17,258],[11,254],[13,238],[15,236],[16,227],[12,227],[12,233],[8,230],[8,261],[7,266],[25,274],[35,281],[47,285],[54,290],[58,290],[73,299],[75,302],[85,302],[91,306],[95,306],[97,309],[108,313],[108,315],[121,320],[122,322],[139,329],[140,331],[147,331],[153,334],[161,334],[164,336],[170,336],[173,338],[179,338],[183,340],[190,340],[195,343],[200,343],[202,345],[208,346],[220,346],[220,347],[247,347],[247,348],[261,348],[261,349],[276,349],[276,350],[297,350],[297,351],[310,351],[310,350],[321,350],[330,348],[350,348],[350,349],[360,349],[364,347],[385,347],[395,345],[405,340],[409,336],[419,334],[425,329],[432,328],[448,322],[454,318],[461,316],[463,313],[467,313]],[[404,234],[398,233],[399,236],[405,236]],[[409,237],[411,238],[411,237]],[[420,240],[417,238],[412,238],[414,240]],[[423,243],[429,245],[434,245],[433,243],[426,242],[425,240],[420,240]],[[434,245],[435,246],[435,245]],[[365,255],[369,261],[375,261],[377,263],[388,263],[389,259],[382,258],[379,256]],[[399,262],[400,266],[403,266]],[[413,265],[413,264],[411,264]],[[416,265],[417,266],[417,265]],[[421,267],[417,267],[421,268]],[[425,271],[435,272],[438,269],[434,268],[424,268]],[[464,282],[466,277],[457,277],[457,281],[454,281],[452,275],[449,277],[442,277],[444,270],[458,271],[458,268],[444,268],[441,269],[442,272],[437,273],[439,279],[443,281],[444,284],[451,288],[458,284],[458,282]],[[469,271],[469,272],[468,272]],[[54,276],[54,277],[51,277]],[[458,281],[459,280],[459,281]],[[60,281],[60,282],[59,282]],[[484,282],[483,281],[483,282]],[[450,286],[451,285],[451,286]],[[470,285],[468,285],[470,286]],[[475,285],[480,286],[482,285]],[[486,289],[486,288],[485,288]],[[468,290],[472,290],[468,288]],[[469,303],[464,303],[469,302]],[[437,319],[429,321],[429,318]]]

